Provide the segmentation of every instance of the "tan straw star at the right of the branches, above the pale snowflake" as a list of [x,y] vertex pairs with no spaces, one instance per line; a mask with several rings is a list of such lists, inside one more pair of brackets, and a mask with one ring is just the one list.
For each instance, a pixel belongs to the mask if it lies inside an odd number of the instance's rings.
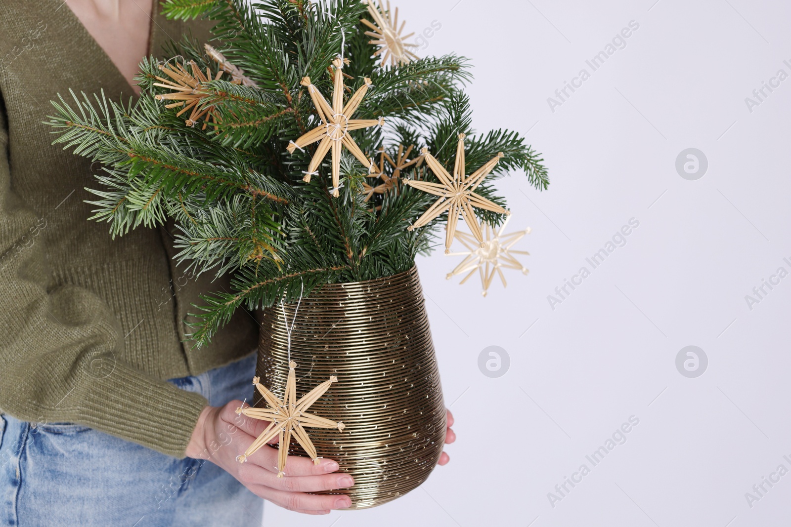
[[418,190],[439,196],[439,199],[411,224],[407,230],[411,231],[418,227],[429,224],[431,220],[441,213],[448,212],[448,225],[445,231],[445,254],[450,253],[450,246],[453,243],[453,235],[456,234],[456,225],[459,223],[459,215],[464,218],[464,222],[469,226],[472,236],[483,244],[483,234],[475,217],[475,208],[490,210],[494,213],[510,214],[510,211],[503,209],[494,201],[490,201],[479,194],[475,194],[475,189],[489,175],[490,171],[497,166],[503,153],[498,153],[483,167],[479,168],[471,175],[464,175],[464,134],[459,134],[459,144],[456,146],[456,164],[453,167],[453,175],[448,174],[437,159],[429,153],[429,149],[422,150],[426,164],[437,176],[441,183],[430,183],[427,181],[415,181],[410,179],[405,181],[409,186],[414,186]]

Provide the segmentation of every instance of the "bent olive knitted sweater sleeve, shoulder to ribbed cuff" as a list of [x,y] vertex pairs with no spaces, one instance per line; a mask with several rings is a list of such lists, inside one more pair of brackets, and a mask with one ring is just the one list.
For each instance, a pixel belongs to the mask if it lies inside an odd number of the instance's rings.
[[124,335],[107,303],[54,285],[40,236],[46,220],[13,191],[8,139],[0,111],[0,409],[184,457],[206,399],[124,363]]

